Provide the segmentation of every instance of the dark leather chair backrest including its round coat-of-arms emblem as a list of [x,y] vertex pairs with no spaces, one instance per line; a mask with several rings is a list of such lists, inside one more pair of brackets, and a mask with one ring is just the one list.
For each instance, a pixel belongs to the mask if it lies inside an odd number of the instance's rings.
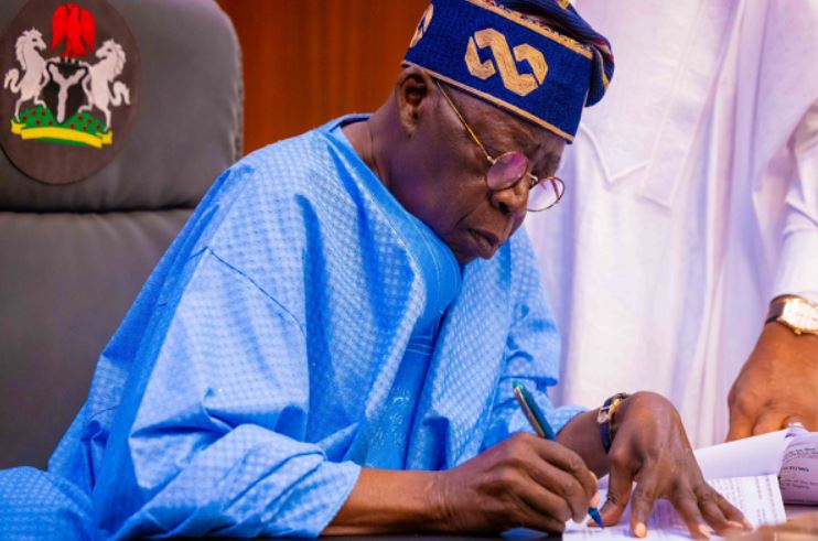
[[[67,3],[0,2],[0,468],[46,464],[143,281],[240,155],[239,44],[214,1]],[[94,72],[109,40],[119,65]],[[51,58],[40,83],[34,54]]]

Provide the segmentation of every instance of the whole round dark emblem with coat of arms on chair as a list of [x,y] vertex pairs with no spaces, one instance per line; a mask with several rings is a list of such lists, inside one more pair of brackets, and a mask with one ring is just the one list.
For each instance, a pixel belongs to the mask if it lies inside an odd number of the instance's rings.
[[51,184],[107,164],[139,93],[139,54],[119,13],[106,0],[31,0],[0,47],[0,142],[11,161]]

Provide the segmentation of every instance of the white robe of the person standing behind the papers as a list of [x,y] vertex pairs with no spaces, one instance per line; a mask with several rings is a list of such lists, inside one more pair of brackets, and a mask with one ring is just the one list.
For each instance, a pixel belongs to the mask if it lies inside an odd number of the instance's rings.
[[769,300],[818,301],[818,1],[578,4],[616,75],[527,219],[558,402],[658,391],[714,443]]

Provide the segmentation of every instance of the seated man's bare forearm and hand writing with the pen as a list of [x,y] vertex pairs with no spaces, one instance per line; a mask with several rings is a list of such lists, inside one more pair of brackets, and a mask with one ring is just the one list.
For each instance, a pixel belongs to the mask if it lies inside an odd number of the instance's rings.
[[322,534],[561,532],[599,499],[580,455],[520,433],[443,472],[363,468]]

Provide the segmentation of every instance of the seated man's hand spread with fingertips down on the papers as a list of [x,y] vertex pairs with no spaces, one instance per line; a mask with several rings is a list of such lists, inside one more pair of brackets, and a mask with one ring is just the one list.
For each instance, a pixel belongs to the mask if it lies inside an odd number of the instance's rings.
[[695,539],[708,539],[710,528],[720,534],[752,528],[704,482],[681,419],[667,399],[653,392],[631,396],[616,410],[613,428],[607,500],[601,509],[606,526],[620,521],[629,500],[631,531],[645,537],[654,502],[667,499]]

